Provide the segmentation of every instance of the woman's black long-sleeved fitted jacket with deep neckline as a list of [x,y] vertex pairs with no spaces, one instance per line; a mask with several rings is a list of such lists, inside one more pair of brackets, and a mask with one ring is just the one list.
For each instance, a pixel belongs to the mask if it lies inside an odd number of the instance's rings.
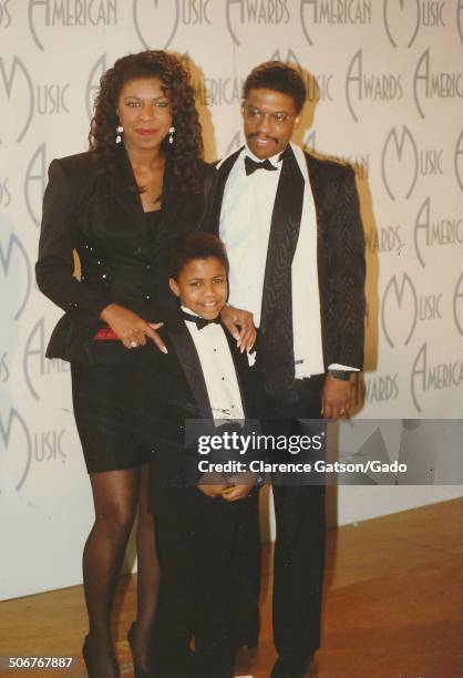
[[[120,341],[94,341],[100,314],[111,301],[146,320],[163,319],[169,298],[166,249],[173,239],[208,228],[208,195],[216,181],[203,164],[203,191],[164,205],[154,240],[123,144],[117,148],[121,186],[110,184],[95,153],[54,160],[43,199],[37,263],[39,288],[60,306],[59,321],[48,347],[49,358],[86,364],[132,361]],[[168,163],[165,182],[168,182]],[[73,276],[73,250],[79,255],[81,281]]]

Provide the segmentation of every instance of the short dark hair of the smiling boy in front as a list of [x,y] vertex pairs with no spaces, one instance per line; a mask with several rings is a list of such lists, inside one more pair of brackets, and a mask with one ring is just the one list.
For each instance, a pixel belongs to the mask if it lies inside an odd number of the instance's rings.
[[191,233],[176,240],[169,250],[168,275],[174,280],[189,261],[194,259],[208,259],[214,257],[224,265],[228,275],[228,257],[224,243],[212,233]]

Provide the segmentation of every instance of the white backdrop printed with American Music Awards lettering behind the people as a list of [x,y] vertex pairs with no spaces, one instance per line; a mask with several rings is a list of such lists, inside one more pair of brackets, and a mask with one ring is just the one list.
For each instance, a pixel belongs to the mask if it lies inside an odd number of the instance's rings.
[[[297,141],[356,165],[368,251],[364,418],[460,418],[463,383],[462,0],[0,0],[0,597],[81,582],[91,496],[61,311],[33,277],[47,168],[86,148],[114,60],[192,60],[207,158],[243,140],[244,76],[307,78]],[[364,399],[362,398],[364,391]],[[339,523],[463,494],[341,487]]]

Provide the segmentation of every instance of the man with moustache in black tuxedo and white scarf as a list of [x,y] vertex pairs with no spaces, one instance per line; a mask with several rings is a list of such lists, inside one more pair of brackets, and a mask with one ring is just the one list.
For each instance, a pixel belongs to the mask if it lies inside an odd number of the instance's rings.
[[[218,164],[215,226],[230,263],[229,301],[254,314],[275,418],[338,419],[362,368],[363,230],[350,167],[290,143],[306,86],[278,61],[244,84],[246,145]],[[310,482],[310,481],[309,481]],[[276,485],[271,678],[305,674],[320,643],[323,487]]]

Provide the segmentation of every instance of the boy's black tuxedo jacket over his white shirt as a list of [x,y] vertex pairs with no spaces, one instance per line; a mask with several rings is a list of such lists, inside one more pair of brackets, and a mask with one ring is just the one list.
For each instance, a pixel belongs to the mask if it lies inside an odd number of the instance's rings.
[[[229,331],[224,326],[223,329],[235,364],[245,417],[263,417],[265,402],[257,370],[249,367],[246,352],[241,353]],[[177,493],[182,506],[185,501],[191,501],[192,495],[198,492],[193,486],[200,475],[197,472],[198,459],[210,460],[214,456],[214,453],[207,456],[197,454],[194,440],[187,441],[189,451],[185,449],[185,421],[204,420],[203,433],[219,432],[212,425],[213,412],[203,368],[185,321],[175,318],[169,328],[162,328],[160,333],[168,349],[166,355],[151,342],[146,350],[140,352],[143,369],[140,425],[143,442],[151,450],[151,508],[155,513],[167,505],[166,499],[172,501],[173,492]],[[227,453],[226,459],[230,458],[230,453]],[[238,458],[239,454],[236,455]],[[239,459],[243,461],[243,458]],[[219,461],[217,458],[215,460]]]

